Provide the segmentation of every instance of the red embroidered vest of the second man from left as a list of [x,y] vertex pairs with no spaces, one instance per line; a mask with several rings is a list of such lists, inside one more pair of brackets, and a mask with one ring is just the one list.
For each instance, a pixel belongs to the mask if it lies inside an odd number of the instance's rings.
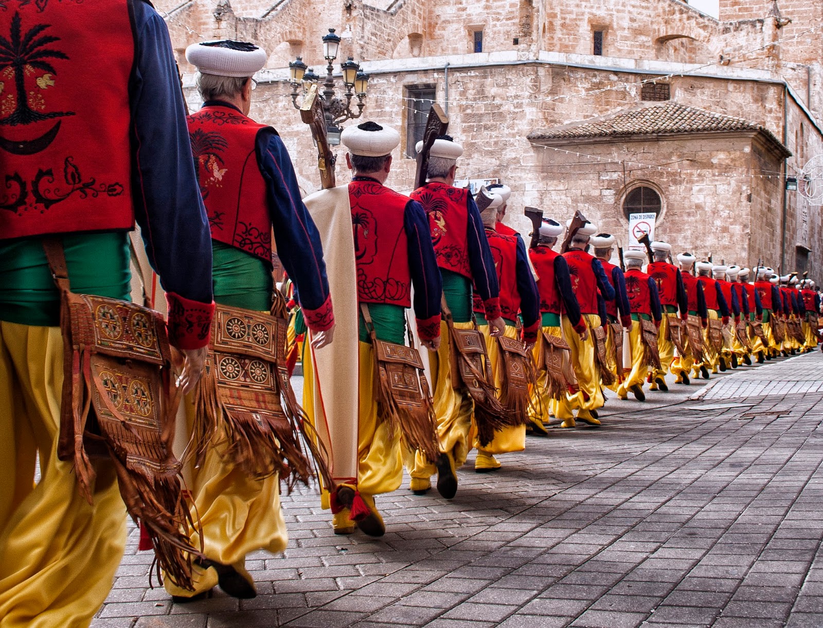
[[272,262],[272,219],[266,181],[255,149],[265,124],[228,106],[203,107],[188,116],[194,169],[212,240]]

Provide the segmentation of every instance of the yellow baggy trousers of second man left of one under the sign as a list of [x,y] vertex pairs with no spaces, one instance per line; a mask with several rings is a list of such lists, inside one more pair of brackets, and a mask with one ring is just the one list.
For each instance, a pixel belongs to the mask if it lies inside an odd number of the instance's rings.
[[600,327],[600,317],[597,314],[583,314],[583,317],[588,325],[588,338],[586,340],[580,340],[568,316],[563,314],[560,318],[566,342],[571,347],[574,374],[577,375],[577,384],[579,386],[577,393],[566,394],[564,399],[553,404],[555,416],[560,421],[574,418],[573,410],[588,414],[592,410],[602,407],[604,402],[603,392],[600,388],[600,370],[594,358],[596,349],[592,336],[592,330]]

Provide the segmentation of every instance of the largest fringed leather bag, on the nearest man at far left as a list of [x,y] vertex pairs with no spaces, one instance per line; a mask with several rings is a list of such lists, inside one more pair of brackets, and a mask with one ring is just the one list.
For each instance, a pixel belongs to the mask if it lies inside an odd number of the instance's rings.
[[61,240],[44,240],[61,293],[66,367],[58,458],[74,463],[78,491],[91,504],[91,458],[114,463],[128,514],[155,547],[156,574],[193,589],[194,527],[171,444],[179,392],[171,376],[165,321],[129,301],[70,289]]

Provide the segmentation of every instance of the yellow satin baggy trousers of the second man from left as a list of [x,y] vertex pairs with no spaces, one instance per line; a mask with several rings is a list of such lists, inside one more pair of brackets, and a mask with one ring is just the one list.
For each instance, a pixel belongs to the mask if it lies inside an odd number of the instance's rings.
[[[195,415],[190,395],[184,399],[184,405],[191,433]],[[255,480],[235,468],[223,458],[226,443],[221,441],[225,438],[223,431],[218,430],[202,465],[192,471],[188,489],[193,500],[192,519],[199,529],[190,529],[189,533],[193,547],[199,547],[202,538],[207,559],[234,566],[251,582],[245,570],[246,555],[258,550],[274,554],[285,550],[289,541],[280,507],[280,476]],[[168,578],[163,585],[171,595],[189,598],[217,584],[215,570],[203,570],[197,565],[193,579],[193,591],[176,586]]]

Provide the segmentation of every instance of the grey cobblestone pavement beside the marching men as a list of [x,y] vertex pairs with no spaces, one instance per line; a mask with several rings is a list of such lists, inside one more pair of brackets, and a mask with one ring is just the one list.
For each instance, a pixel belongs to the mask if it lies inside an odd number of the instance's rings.
[[92,626],[823,626],[821,381],[818,351],[611,397],[602,428],[529,437],[500,472],[472,454],[454,500],[379,496],[380,539],[297,492],[253,600],[172,603],[132,530]]

